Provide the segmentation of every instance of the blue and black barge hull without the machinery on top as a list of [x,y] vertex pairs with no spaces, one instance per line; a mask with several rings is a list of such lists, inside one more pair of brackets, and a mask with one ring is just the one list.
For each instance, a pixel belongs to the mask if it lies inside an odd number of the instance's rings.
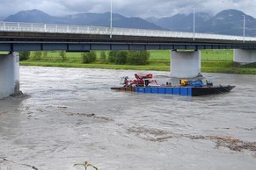
[[151,93],[151,94],[166,94],[166,95],[179,95],[179,96],[202,96],[202,95],[215,95],[230,92],[235,86],[211,86],[211,87],[165,87],[165,86],[149,86],[149,87],[121,87],[111,88],[120,91],[131,91],[136,93]]

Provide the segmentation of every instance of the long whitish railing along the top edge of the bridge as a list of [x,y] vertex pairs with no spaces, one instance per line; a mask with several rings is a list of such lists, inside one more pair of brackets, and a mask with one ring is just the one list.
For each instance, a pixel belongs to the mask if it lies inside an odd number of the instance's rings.
[[221,34],[194,33],[194,32],[171,32],[144,29],[129,29],[86,26],[86,25],[53,25],[40,23],[16,23],[0,22],[1,32],[49,32],[49,33],[74,33],[74,34],[100,34],[100,35],[126,35],[143,37],[164,37],[164,38],[187,38],[187,39],[218,39],[256,41],[256,37],[231,36]]

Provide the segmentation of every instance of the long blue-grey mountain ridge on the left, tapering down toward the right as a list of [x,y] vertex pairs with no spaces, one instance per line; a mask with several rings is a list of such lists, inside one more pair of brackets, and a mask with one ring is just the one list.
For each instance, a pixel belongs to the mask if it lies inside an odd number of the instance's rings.
[[[29,22],[29,23],[48,23],[58,25],[95,25],[109,26],[110,12],[97,13],[79,13],[64,17],[50,16],[43,11],[19,11],[17,14],[5,18],[4,21],[10,22]],[[113,14],[113,27],[140,28],[163,30],[162,27],[150,23],[142,18],[126,18],[119,14]]]

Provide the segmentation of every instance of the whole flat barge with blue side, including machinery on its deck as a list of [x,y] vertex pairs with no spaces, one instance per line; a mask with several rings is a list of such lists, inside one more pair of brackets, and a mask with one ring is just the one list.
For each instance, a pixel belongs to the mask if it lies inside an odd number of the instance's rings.
[[[135,74],[135,80],[128,80],[128,76],[121,77],[123,87],[111,88],[119,91],[131,91],[135,93],[150,93],[150,94],[166,94],[179,96],[203,96],[215,95],[230,92],[235,86],[213,86],[212,82],[206,81],[204,84],[201,80],[187,81],[179,80],[179,86],[172,86],[171,82],[166,82],[166,85],[157,85],[156,80],[151,80],[153,74]],[[154,83],[155,85],[151,85]]]

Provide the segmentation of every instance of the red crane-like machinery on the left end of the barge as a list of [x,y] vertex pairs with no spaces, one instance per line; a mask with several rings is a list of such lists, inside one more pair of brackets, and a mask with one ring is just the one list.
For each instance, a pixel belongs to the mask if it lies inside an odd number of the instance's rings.
[[150,83],[154,82],[157,85],[156,80],[151,80],[153,78],[153,74],[135,74],[134,81],[129,81],[128,76],[121,77],[121,84],[124,85],[124,87],[133,87],[133,86],[149,86]]

